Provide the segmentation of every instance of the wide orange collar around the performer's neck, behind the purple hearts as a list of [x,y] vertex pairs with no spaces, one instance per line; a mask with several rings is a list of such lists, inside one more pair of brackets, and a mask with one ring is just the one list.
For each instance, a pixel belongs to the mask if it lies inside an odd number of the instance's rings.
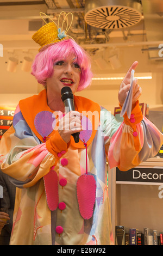
[[[40,139],[40,141],[44,142],[43,137],[36,130],[35,117],[38,113],[42,111],[54,113],[54,111],[52,111],[52,109],[49,108],[49,106],[47,105],[46,89],[42,90],[38,95],[33,95],[31,97],[28,97],[27,99],[21,100],[19,102],[19,105],[22,115],[24,119],[27,121],[27,124],[29,125],[30,129],[35,133],[35,135],[37,136],[37,138]],[[76,111],[83,113],[83,115],[85,115],[89,119],[89,121],[91,121],[92,132],[89,140],[86,142],[87,145],[90,145],[93,141],[93,138],[96,135],[96,130],[99,126],[101,107],[97,103],[89,99],[86,99],[85,97],[76,95],[74,95],[74,105]],[[53,130],[48,135],[48,137],[51,137],[54,133],[55,130]],[[87,133],[87,131],[85,131],[85,133]],[[78,143],[75,143],[72,136],[71,145],[73,145],[73,147],[75,148],[85,148],[84,143],[81,140],[79,140]]]

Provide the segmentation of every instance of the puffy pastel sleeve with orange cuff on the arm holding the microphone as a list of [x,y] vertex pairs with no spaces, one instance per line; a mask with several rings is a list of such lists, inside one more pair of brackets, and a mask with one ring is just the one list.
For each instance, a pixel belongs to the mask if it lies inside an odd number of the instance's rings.
[[[29,187],[45,176],[67,151],[67,144],[58,131],[48,143],[42,143],[34,135],[20,108],[17,107],[10,129],[0,143],[2,172],[8,174],[17,187]],[[57,141],[57,144],[55,144]]]

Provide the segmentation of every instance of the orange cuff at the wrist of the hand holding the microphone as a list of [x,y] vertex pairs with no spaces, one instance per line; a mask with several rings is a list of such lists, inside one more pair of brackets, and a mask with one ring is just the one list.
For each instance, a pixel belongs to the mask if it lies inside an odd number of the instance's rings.
[[61,138],[58,130],[55,131],[54,135],[52,135],[51,138],[46,141],[46,148],[47,150],[53,154],[57,159],[60,159],[62,155],[64,155],[68,147],[70,146],[69,142],[68,144]]

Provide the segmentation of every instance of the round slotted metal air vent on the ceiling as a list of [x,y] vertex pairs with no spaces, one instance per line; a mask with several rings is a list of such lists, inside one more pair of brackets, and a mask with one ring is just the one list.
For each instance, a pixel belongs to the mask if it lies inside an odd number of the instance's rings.
[[139,0],[85,0],[85,21],[102,29],[120,29],[141,20]]

